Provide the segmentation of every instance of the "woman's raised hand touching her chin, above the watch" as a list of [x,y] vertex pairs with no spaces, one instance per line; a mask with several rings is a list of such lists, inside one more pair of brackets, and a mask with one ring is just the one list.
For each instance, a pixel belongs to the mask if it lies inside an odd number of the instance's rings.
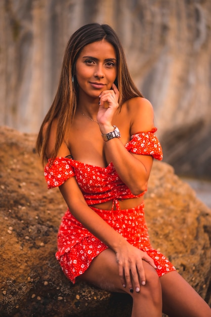
[[[99,96],[99,110],[97,121],[99,126],[112,126],[113,115],[118,108],[119,91],[115,84],[112,85],[112,90],[104,90]],[[101,131],[102,133],[107,133]]]

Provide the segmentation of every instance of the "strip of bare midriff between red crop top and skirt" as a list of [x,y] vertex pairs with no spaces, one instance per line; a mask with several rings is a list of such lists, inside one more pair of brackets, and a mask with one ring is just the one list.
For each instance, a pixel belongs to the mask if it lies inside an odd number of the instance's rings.
[[[143,196],[137,197],[137,198],[124,199],[124,200],[117,199],[117,201],[119,203],[120,209],[130,209],[130,208],[134,208],[136,206],[141,205],[143,203]],[[113,205],[113,201],[109,201],[106,203],[92,205],[92,207],[103,209],[103,210],[111,210],[112,205]],[[113,209],[116,210],[115,204]]]

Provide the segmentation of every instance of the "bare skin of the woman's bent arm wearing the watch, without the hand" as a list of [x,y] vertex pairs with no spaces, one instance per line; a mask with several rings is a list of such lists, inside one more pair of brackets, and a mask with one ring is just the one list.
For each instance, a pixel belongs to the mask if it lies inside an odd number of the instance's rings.
[[[108,100],[109,101],[109,100]],[[131,110],[131,134],[140,131],[151,131],[154,127],[154,114],[151,103],[145,98],[133,98],[129,101]],[[111,132],[111,120],[99,124],[103,134]],[[107,162],[112,162],[121,180],[130,188],[134,195],[145,191],[152,168],[151,155],[130,153],[122,144],[120,138],[105,141]]]

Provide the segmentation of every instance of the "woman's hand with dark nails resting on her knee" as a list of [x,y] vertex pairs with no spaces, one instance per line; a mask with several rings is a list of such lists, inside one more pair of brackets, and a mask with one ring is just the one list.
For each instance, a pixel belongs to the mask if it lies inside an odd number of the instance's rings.
[[116,252],[116,262],[118,263],[119,276],[123,287],[128,287],[131,292],[135,289],[140,291],[141,285],[146,284],[146,277],[143,267],[143,260],[148,262],[154,269],[156,265],[146,252],[126,243],[126,245]]

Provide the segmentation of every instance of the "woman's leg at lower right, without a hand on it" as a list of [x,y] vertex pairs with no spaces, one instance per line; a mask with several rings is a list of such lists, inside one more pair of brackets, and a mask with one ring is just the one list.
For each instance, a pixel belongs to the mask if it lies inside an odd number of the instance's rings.
[[160,278],[163,312],[170,317],[211,317],[211,308],[195,290],[174,271]]

